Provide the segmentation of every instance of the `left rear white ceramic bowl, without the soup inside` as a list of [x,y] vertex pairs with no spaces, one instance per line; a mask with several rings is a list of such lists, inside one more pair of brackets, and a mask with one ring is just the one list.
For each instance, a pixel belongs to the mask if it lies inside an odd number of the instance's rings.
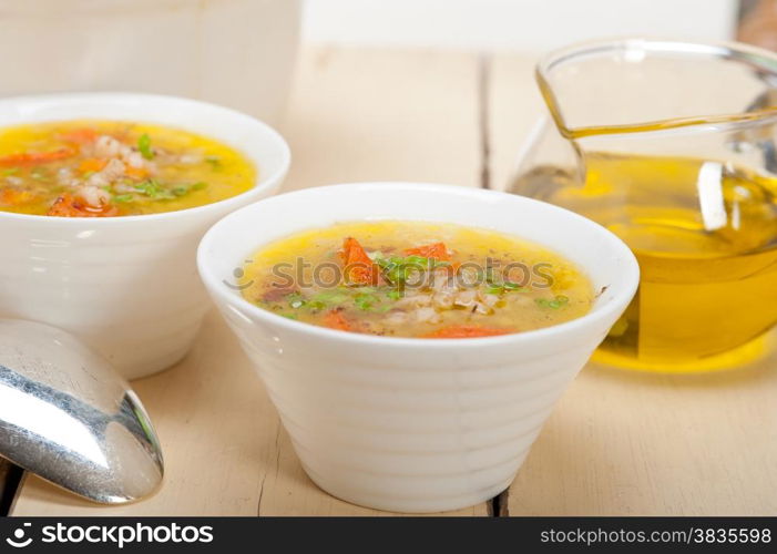
[[290,155],[264,123],[193,100],[129,93],[0,100],[0,127],[81,117],[185,129],[234,146],[258,167],[249,191],[180,212],[115,218],[0,212],[0,317],[61,327],[134,379],[190,349],[209,306],[196,276],[200,238],[227,213],[273,194]]

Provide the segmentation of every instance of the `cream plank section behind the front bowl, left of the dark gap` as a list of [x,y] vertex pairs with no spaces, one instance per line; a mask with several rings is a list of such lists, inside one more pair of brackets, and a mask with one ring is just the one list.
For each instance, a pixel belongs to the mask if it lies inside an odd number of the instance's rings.
[[284,134],[285,189],[357,181],[479,185],[478,60],[468,53],[316,49]]

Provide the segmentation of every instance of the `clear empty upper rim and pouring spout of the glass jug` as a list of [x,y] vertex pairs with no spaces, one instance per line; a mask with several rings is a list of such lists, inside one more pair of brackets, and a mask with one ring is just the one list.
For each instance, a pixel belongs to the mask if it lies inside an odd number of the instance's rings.
[[545,57],[535,78],[559,133],[570,140],[777,115],[775,54],[745,44],[630,39]]

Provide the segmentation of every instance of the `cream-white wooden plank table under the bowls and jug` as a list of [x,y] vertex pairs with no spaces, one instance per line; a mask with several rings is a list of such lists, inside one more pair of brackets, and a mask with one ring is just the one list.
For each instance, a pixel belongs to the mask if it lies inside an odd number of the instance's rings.
[[[501,188],[540,113],[525,58],[307,49],[282,130],[294,157],[285,188],[390,179]],[[13,515],[382,515],[307,479],[215,312],[183,362],[135,388],[165,451],[162,490],[104,507],[28,476]],[[497,515],[777,515],[776,398],[774,355],[699,376],[586,367]]]

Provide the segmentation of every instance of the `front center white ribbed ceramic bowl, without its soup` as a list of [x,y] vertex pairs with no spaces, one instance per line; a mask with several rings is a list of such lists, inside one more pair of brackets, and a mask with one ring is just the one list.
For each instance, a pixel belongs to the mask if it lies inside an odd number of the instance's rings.
[[[514,234],[577,263],[604,291],[590,314],[555,327],[408,339],[293,321],[226,285],[267,242],[365,216]],[[504,193],[406,183],[258,202],[208,230],[197,264],[310,479],[349,502],[402,512],[477,504],[510,484],[554,402],[632,299],[640,274],[618,238],[572,212]]]

